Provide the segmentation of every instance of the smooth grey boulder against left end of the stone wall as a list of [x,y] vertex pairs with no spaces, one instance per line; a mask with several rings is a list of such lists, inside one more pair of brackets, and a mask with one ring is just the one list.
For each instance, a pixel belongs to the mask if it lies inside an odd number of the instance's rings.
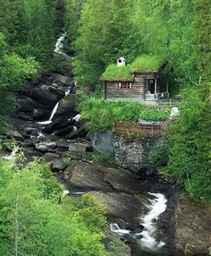
[[113,132],[93,132],[89,135],[92,147],[105,156],[114,155]]

